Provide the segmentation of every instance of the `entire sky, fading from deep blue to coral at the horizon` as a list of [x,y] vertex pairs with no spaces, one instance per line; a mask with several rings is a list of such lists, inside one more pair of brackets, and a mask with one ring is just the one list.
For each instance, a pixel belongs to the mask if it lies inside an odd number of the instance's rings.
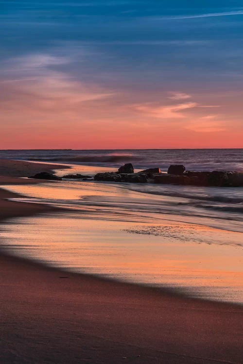
[[0,0],[0,149],[243,148],[242,0]]

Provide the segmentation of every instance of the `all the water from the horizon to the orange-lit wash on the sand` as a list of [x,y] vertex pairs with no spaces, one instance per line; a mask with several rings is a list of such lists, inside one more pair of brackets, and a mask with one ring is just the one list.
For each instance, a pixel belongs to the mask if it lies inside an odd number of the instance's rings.
[[[1,158],[62,163],[57,175],[173,163],[243,170],[243,149],[18,150]],[[4,188],[62,212],[0,226],[1,246],[67,271],[243,302],[243,187],[61,181]]]

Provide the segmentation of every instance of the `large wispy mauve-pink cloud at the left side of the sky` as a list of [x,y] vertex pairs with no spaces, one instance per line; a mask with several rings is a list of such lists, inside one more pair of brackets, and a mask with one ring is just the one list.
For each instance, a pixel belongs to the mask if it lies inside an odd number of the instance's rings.
[[111,95],[98,85],[77,81],[67,72],[56,70],[57,66],[70,62],[69,57],[48,53],[14,58],[6,62],[3,74],[8,78],[1,83],[5,84],[5,91],[12,97],[28,95],[39,107],[57,107],[59,103],[59,107],[69,107],[75,103],[103,99]]

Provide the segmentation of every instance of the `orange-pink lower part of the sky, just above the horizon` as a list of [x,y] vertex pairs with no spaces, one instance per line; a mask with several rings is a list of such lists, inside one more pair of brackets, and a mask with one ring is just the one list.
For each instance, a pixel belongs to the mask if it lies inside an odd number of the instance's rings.
[[161,91],[153,102],[152,92],[134,98],[62,73],[1,83],[1,149],[243,147],[234,94],[210,102],[207,93]]

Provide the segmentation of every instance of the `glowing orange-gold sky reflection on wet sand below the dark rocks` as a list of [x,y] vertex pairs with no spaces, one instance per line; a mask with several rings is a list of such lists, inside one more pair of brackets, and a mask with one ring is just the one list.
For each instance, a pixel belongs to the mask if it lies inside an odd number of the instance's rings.
[[197,297],[243,300],[242,232],[220,229],[221,220],[165,214],[168,197],[112,184],[7,188],[28,196],[23,200],[66,208],[3,225],[5,248],[16,254],[76,272],[182,288]]

